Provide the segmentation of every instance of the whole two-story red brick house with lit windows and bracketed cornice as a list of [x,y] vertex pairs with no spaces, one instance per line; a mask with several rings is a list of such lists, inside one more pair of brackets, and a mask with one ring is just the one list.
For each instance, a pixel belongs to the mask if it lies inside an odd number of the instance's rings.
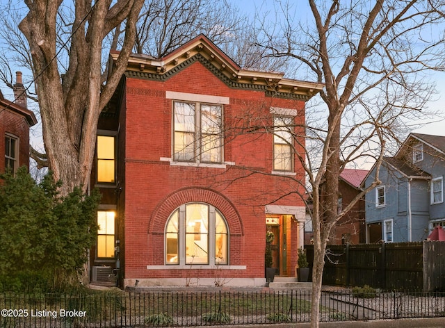
[[266,229],[277,273],[295,277],[305,172],[289,142],[301,136],[301,154],[322,87],[241,69],[204,35],[132,55],[98,125],[92,280],[118,268],[121,286],[263,285]]

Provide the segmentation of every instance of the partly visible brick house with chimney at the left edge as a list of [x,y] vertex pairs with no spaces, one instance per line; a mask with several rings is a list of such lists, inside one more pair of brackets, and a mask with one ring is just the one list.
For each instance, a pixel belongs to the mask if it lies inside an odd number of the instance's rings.
[[29,168],[29,128],[37,124],[37,120],[34,113],[26,109],[24,90],[20,72],[14,85],[15,102],[5,99],[0,90],[0,152],[4,154],[0,173],[6,168],[15,172],[23,165]]

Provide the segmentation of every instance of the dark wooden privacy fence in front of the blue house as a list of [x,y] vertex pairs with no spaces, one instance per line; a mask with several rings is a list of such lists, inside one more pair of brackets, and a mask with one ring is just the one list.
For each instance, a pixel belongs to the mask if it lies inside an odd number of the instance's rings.
[[[309,267],[314,245],[305,245]],[[445,242],[328,245],[323,284],[445,291]]]

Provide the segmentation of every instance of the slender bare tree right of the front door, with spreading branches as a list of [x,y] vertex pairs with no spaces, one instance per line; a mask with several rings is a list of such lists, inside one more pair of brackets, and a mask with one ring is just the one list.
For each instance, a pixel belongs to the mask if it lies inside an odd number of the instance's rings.
[[[370,158],[380,167],[383,154],[405,136],[410,122],[419,124],[420,118],[432,115],[424,110],[435,92],[428,72],[443,69],[445,4],[308,2],[311,17],[295,22],[296,8],[278,1],[277,21],[267,24],[263,20],[255,34],[256,45],[264,47],[266,56],[285,57],[288,67],[295,67],[294,74],[325,85],[321,104],[307,108],[306,144],[294,149],[307,174],[306,192],[312,203],[311,321],[312,327],[318,327],[330,231],[360,197],[380,183],[376,174],[373,184],[338,213],[339,174],[346,165]],[[301,147],[305,153],[300,153]]]

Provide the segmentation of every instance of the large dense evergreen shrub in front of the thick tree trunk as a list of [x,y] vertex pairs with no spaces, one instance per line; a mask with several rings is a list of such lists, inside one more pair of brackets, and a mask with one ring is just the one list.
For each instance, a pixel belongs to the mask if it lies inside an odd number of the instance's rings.
[[47,174],[36,183],[20,167],[0,179],[0,279],[12,279],[3,290],[32,290],[78,284],[77,274],[88,259],[86,249],[97,234],[96,211],[100,194],[74,188],[66,197],[60,182]]

